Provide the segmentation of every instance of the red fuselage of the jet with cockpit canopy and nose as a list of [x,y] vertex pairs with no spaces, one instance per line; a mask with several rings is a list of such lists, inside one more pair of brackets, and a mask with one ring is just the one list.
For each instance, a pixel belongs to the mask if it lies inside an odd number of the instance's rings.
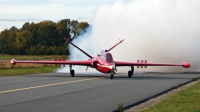
[[101,53],[91,59],[92,68],[95,68],[101,73],[111,73],[115,63],[112,54],[109,52],[101,51]]

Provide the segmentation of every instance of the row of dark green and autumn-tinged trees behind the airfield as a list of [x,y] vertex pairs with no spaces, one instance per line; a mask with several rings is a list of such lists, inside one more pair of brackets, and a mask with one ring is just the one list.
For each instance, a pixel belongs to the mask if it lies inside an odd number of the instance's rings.
[[88,26],[87,22],[70,19],[26,22],[19,29],[13,26],[0,33],[0,54],[69,55],[68,43],[63,38],[72,40]]

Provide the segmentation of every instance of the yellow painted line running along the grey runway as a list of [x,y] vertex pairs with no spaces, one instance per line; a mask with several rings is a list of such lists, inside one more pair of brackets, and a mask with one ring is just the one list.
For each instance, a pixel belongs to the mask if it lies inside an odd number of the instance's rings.
[[[122,75],[115,75],[115,76],[122,76]],[[105,77],[89,78],[89,79],[75,80],[75,81],[69,81],[69,82],[60,82],[60,83],[54,83],[54,84],[45,84],[45,85],[41,85],[41,86],[32,86],[32,87],[26,87],[26,88],[12,89],[12,90],[0,91],[0,94],[2,94],[2,93],[9,93],[9,92],[15,92],[15,91],[22,91],[22,90],[29,90],[29,89],[36,89],[36,88],[43,88],[43,87],[49,87],[49,86],[70,84],[70,83],[75,83],[75,82],[84,82],[84,81],[96,80],[96,79],[101,79],[101,78],[105,78]]]

